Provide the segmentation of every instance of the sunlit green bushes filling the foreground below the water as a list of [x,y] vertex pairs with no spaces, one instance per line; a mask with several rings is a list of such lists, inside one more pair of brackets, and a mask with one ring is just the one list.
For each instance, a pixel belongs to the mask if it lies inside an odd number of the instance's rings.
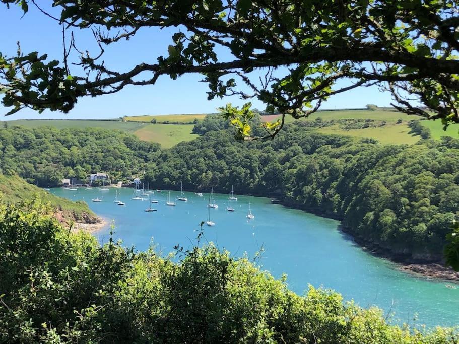
[[214,246],[179,263],[0,209],[0,342],[457,342],[387,324],[332,291],[304,297]]

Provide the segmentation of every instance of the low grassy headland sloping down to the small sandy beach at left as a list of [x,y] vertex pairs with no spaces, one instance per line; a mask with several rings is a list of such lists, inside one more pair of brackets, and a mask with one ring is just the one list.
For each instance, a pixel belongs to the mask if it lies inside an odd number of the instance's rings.
[[0,201],[2,203],[18,203],[34,198],[37,199],[37,202],[49,204],[65,220],[87,223],[97,221],[96,214],[89,209],[88,204],[85,202],[73,202],[54,196],[35,185],[27,183],[24,179],[16,175],[7,176],[0,174]]

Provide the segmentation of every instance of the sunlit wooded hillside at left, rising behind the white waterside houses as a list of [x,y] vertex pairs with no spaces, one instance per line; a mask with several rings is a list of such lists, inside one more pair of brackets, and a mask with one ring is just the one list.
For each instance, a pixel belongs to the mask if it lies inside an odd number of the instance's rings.
[[10,127],[0,129],[0,142],[0,170],[42,187],[102,171],[112,182],[130,180],[159,151],[132,134],[98,128]]

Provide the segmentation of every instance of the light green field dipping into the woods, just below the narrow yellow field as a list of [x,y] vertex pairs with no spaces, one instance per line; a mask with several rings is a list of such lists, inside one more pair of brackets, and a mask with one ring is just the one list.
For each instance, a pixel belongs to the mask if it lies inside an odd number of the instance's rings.
[[161,147],[170,148],[182,141],[191,141],[198,137],[192,134],[192,124],[144,124],[134,134],[140,140],[159,142]]

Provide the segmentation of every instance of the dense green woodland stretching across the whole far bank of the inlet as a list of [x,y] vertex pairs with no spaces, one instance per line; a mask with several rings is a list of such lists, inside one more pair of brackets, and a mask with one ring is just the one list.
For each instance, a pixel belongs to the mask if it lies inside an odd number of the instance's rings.
[[[285,126],[274,140],[237,141],[223,120],[206,133],[160,150],[103,129],[0,129],[0,168],[40,185],[105,171],[143,176],[154,188],[274,196],[286,205],[342,220],[343,229],[397,260],[437,262],[459,209],[459,140],[380,145]],[[361,125],[356,122],[354,125]],[[368,124],[368,123],[367,123]],[[371,124],[371,123],[370,123]],[[347,124],[349,125],[349,123]]]

